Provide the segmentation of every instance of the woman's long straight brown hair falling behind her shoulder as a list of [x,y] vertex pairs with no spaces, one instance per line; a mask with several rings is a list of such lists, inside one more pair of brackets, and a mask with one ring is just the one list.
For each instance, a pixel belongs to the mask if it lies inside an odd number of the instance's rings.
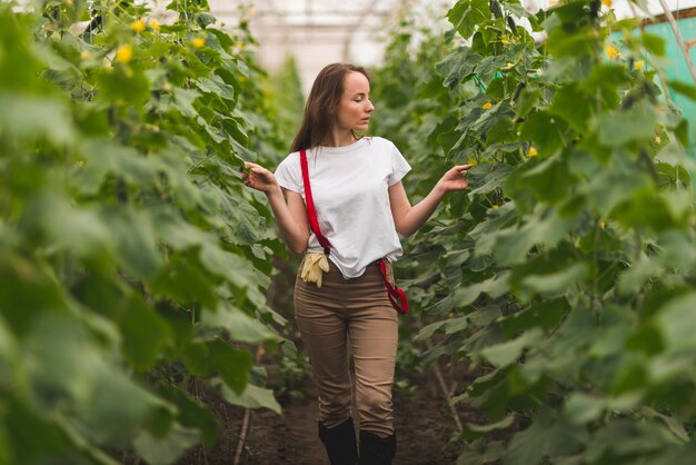
[[[336,123],[336,108],[344,95],[344,80],[348,72],[355,71],[370,77],[365,68],[349,63],[331,63],[324,67],[315,79],[302,116],[300,126],[290,151],[307,150],[326,145],[331,138]],[[358,136],[352,133],[356,138]]]

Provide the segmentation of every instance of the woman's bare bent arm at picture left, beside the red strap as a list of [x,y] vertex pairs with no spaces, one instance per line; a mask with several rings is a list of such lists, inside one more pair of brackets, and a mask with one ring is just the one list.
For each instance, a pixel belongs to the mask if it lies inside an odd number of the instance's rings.
[[249,168],[241,175],[245,185],[266,194],[280,238],[292,251],[304,254],[309,240],[309,224],[302,197],[298,192],[282,189],[274,174],[262,166],[249,161],[245,165]]

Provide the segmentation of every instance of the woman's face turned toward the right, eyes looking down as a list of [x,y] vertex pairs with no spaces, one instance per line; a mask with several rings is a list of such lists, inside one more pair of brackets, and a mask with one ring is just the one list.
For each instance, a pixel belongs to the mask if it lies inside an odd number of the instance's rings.
[[336,126],[344,130],[365,131],[375,110],[370,83],[361,72],[349,71],[344,77],[344,95],[336,108]]

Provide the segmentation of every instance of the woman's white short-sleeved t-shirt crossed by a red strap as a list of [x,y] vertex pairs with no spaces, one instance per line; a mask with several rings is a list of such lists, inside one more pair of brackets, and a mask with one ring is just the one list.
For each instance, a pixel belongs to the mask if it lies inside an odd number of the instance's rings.
[[[410,166],[396,146],[380,137],[364,137],[349,146],[310,149],[307,162],[319,229],[331,243],[329,258],[344,277],[362,275],[379,258],[400,257],[404,250],[387,189]],[[305,199],[299,152],[280,162],[276,179]],[[311,230],[308,250],[324,250]]]

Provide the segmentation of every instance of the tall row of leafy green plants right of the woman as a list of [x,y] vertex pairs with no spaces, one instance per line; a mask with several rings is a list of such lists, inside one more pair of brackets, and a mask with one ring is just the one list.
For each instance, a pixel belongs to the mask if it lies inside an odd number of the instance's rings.
[[375,100],[376,130],[419,167],[410,191],[476,165],[404,263],[435,320],[424,359],[479,374],[454,399],[486,417],[459,462],[694,463],[693,149],[667,92],[694,87],[599,1],[461,0],[448,20],[405,19]]

